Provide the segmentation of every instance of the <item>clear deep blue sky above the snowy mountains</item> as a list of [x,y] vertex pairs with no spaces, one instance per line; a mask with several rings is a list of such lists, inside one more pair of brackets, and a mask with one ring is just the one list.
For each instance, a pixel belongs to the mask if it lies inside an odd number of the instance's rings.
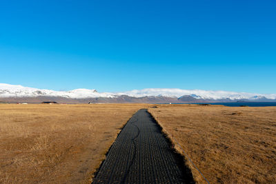
[[0,83],[276,93],[276,1],[1,1]]

